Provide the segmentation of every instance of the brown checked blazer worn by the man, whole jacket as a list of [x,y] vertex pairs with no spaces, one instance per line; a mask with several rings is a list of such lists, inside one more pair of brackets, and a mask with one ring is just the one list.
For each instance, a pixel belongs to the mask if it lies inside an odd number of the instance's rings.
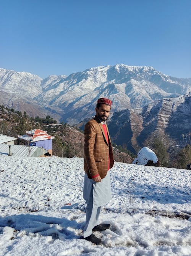
[[88,178],[100,175],[104,178],[108,171],[108,159],[110,168],[113,167],[113,152],[110,135],[106,125],[108,142],[105,138],[104,129],[97,116],[87,122],[84,129],[84,170]]

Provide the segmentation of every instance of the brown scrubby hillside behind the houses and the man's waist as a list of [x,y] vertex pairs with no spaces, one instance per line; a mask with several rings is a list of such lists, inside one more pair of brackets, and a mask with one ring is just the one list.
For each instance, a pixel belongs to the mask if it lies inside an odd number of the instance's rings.
[[[29,117],[14,109],[0,106],[0,134],[18,137],[25,134],[26,130],[42,129],[50,135],[55,135],[52,140],[53,155],[59,157],[84,157],[84,134],[82,130],[67,124],[57,124],[52,117]],[[15,144],[24,144],[23,140],[16,140]],[[122,151],[122,152],[121,152]],[[114,159],[118,162],[131,163],[133,158],[123,152],[124,149],[113,147]],[[125,150],[126,151],[126,150]],[[129,152],[130,153],[130,152]]]

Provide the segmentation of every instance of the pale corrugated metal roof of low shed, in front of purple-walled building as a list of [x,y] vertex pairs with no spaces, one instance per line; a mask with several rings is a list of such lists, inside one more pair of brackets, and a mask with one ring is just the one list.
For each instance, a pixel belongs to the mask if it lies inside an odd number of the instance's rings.
[[[30,150],[31,150],[30,156],[32,156],[38,149],[39,149],[39,147],[30,147]],[[15,157],[28,157],[29,156],[29,147],[24,146],[24,145],[11,145],[11,153]],[[9,145],[0,144],[0,154],[8,155],[9,154]]]

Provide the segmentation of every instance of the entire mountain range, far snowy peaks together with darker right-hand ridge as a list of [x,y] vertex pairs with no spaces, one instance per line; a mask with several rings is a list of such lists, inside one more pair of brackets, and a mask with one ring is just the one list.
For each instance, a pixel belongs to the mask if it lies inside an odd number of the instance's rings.
[[78,124],[95,115],[99,97],[113,101],[109,122],[116,144],[136,149],[157,129],[181,140],[191,131],[191,78],[174,78],[152,67],[99,66],[45,79],[0,68],[0,102],[30,116]]

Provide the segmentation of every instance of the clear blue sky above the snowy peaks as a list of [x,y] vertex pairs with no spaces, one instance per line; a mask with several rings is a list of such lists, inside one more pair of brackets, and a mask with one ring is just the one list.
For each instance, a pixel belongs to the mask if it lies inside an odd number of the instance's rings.
[[0,68],[126,64],[191,77],[191,0],[0,0]]

